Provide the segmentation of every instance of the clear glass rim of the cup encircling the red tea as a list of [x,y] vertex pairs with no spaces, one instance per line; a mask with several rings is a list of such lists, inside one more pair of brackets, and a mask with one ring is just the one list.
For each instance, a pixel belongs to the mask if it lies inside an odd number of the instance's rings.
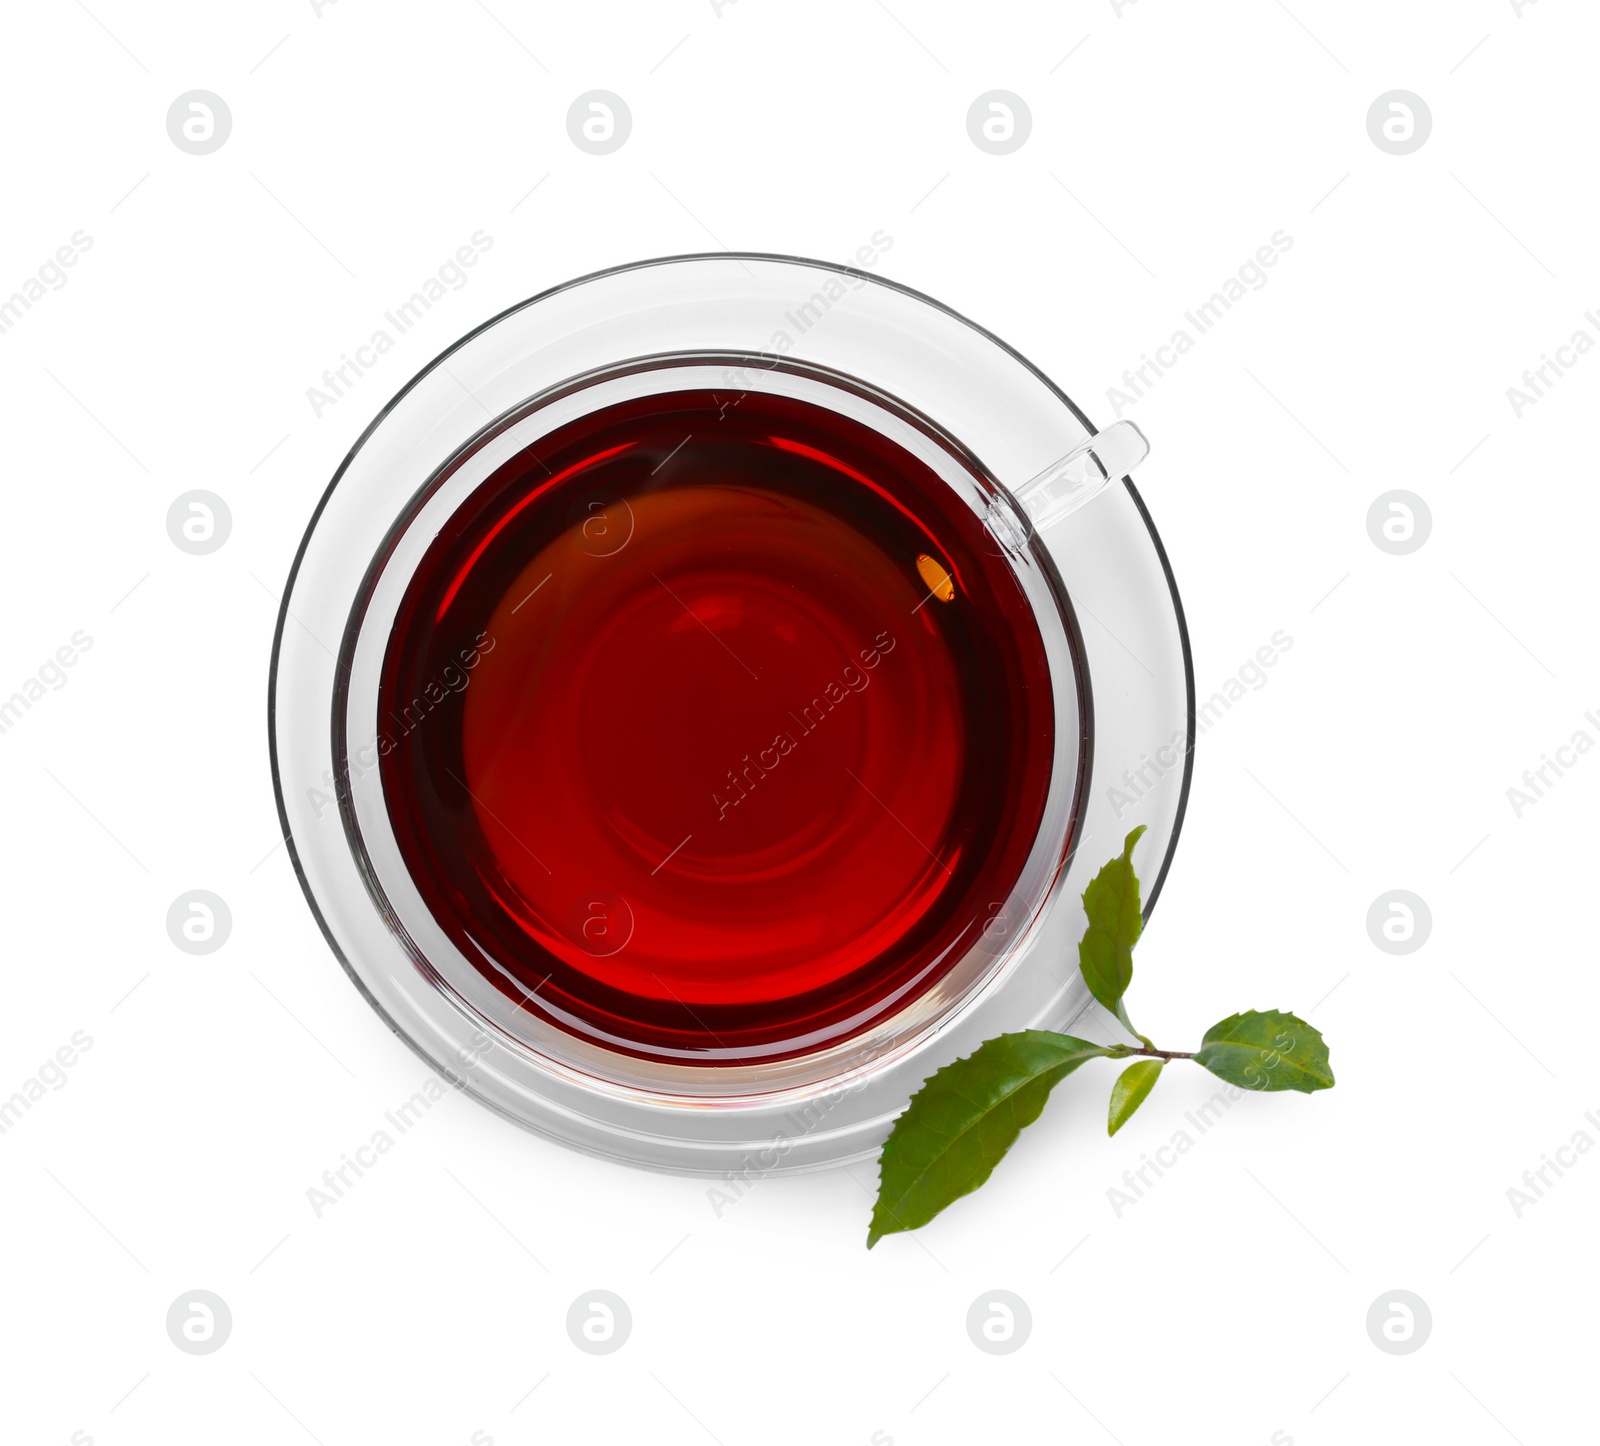
[[[915,1048],[926,1032],[936,1030],[976,990],[1003,973],[1050,902],[1070,856],[1093,755],[1093,701],[1082,669],[1082,635],[1054,561],[1038,539],[1022,547],[1002,547],[994,539],[1029,601],[1050,661],[1056,718],[1051,782],[1029,857],[1010,894],[978,939],[933,985],[915,993],[907,990],[899,1008],[875,1009],[874,1021],[834,1043],[824,1040],[805,1049],[803,1038],[786,1040],[766,1051],[773,1056],[770,1061],[760,1062],[750,1062],[755,1051],[746,1049],[739,1064],[718,1065],[706,1062],[706,1056],[699,1056],[701,1064],[674,1064],[661,1057],[642,1059],[627,1051],[630,1041],[626,1040],[618,1040],[622,1049],[610,1049],[584,1038],[582,1032],[547,1022],[533,1009],[533,992],[523,990],[530,1005],[523,1008],[462,955],[427,909],[405,865],[376,766],[378,683],[414,569],[432,539],[477,488],[514,456],[538,446],[549,432],[637,397],[717,390],[718,373],[725,377],[734,369],[742,373],[744,390],[826,406],[888,435],[926,462],[979,521],[997,502],[1010,502],[1005,489],[982,473],[978,459],[963,454],[957,438],[944,433],[931,417],[856,377],[808,363],[757,366],[749,354],[622,360],[563,381],[496,417],[429,478],[395,520],[355,597],[339,648],[333,699],[333,773],[346,838],[374,907],[389,920],[414,966],[469,1017],[531,1049],[547,1067],[576,1072],[595,1088],[629,1091],[650,1102],[738,1100],[832,1084],[864,1061],[877,1062]],[[370,757],[352,760],[352,737],[365,741],[360,747]],[[488,963],[494,966],[493,960]],[[515,985],[507,971],[499,973]],[[547,1001],[538,1003],[554,1013]]]

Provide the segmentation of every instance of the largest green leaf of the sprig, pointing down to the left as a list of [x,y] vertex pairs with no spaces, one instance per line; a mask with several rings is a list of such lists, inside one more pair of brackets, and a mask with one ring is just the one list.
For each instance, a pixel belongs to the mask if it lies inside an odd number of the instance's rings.
[[883,1144],[867,1249],[970,1195],[1045,1108],[1050,1091],[1112,1046],[1048,1030],[1000,1035],[931,1075]]

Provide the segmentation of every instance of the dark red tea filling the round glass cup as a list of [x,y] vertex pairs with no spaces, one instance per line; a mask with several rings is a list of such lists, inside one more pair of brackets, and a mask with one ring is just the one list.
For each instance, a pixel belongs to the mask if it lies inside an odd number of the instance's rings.
[[971,509],[766,393],[610,406],[494,472],[384,659],[389,816],[432,915],[562,1029],[688,1064],[858,1035],[1010,896],[1045,645]]

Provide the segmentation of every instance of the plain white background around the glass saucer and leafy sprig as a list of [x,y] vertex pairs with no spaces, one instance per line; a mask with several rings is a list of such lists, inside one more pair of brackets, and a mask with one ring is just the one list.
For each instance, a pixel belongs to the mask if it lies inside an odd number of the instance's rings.
[[[1122,10],[8,11],[0,293],[78,229],[93,246],[0,336],[0,694],[78,629],[93,648],[0,736],[0,1094],[75,1030],[93,1046],[0,1136],[5,1440],[1592,1430],[1600,1152],[1520,1217],[1507,1188],[1576,1131],[1600,1142],[1600,755],[1520,817],[1506,790],[1574,731],[1600,739],[1600,357],[1520,417],[1506,392],[1579,326],[1600,339],[1582,318],[1600,18]],[[234,120],[205,157],[165,128],[195,88]],[[634,115],[606,157],[565,125],[595,88]],[[1034,118],[1006,157],[965,126],[995,88]],[[1406,157],[1366,131],[1395,88],[1434,117]],[[317,417],[323,368],[480,229],[470,282]],[[1130,1001],[1171,1048],[1234,1009],[1298,1009],[1338,1088],[1245,1099],[1118,1217],[1107,1190],[1211,1089],[1170,1070],[1107,1140],[1112,1072],[1090,1067],[981,1193],[870,1256],[870,1168],[766,1180],[718,1217],[702,1180],[582,1158],[454,1094],[317,1219],[307,1188],[424,1067],[275,846],[267,653],[317,496],[406,377],[597,267],[720,245],[846,259],[885,230],[885,275],[995,330],[1104,425],[1123,368],[1280,229],[1269,283],[1125,413],[1155,446],[1139,486],[1202,697],[1275,630],[1294,640],[1202,739]],[[210,557],[166,536],[190,488],[232,509]],[[1392,488],[1432,510],[1406,557],[1366,531]],[[208,957],[165,929],[195,888],[234,915]],[[1405,957],[1365,925],[1395,888],[1434,917]],[[232,1310],[214,1355],[166,1336],[195,1288]],[[565,1332],[592,1288],[634,1315],[610,1356]],[[1434,1318],[1405,1356],[1365,1326],[1397,1288]],[[1032,1310],[1008,1356],[965,1331],[990,1289]]]

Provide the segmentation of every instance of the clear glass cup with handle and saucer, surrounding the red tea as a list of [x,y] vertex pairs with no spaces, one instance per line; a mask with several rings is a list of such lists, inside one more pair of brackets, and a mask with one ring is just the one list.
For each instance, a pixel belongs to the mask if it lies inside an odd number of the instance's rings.
[[[824,408],[931,469],[1027,600],[1054,721],[1026,859],[942,973],[859,1029],[728,1064],[630,1049],[496,984],[413,878],[379,758],[386,653],[442,528],[558,429],[707,390]],[[872,1155],[936,1069],[998,1033],[1066,1029],[1090,1006],[1075,966],[1078,896],[1138,824],[1149,830],[1142,859],[1158,861],[1141,865],[1147,909],[1160,891],[1187,797],[1194,688],[1165,553],[1126,480],[1144,451],[1130,424],[1094,433],[970,322],[846,267],[672,258],[491,320],[414,377],[346,459],[278,619],[274,782],[334,953],[435,1069],[565,1144],[741,1177]]]

